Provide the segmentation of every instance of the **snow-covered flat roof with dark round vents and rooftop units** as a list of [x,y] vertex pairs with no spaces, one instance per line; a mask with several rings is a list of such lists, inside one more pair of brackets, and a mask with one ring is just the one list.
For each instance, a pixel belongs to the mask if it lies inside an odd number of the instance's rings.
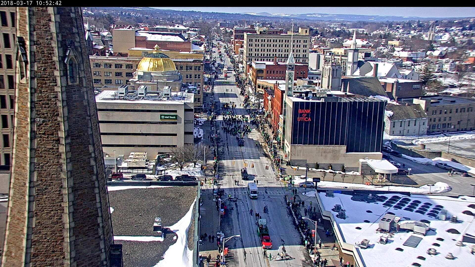
[[[334,197],[326,197],[324,192],[319,192],[323,213],[331,213],[337,223],[338,238],[349,246],[359,244],[363,239],[370,240],[369,248],[356,247],[356,257],[360,257],[366,267],[446,267],[446,266],[472,266],[473,255],[470,253],[472,243],[464,242],[464,246],[456,246],[464,234],[473,235],[475,213],[475,197],[459,196],[447,197],[437,195],[411,196],[388,193],[374,194],[375,198],[369,200],[369,193],[353,193],[343,191],[334,193]],[[395,201],[390,201],[390,199]],[[389,201],[389,202],[388,202]],[[402,203],[399,207],[396,204]],[[408,203],[408,204],[404,204]],[[334,205],[340,204],[346,212],[346,219],[336,217],[332,211]],[[409,206],[414,204],[415,209]],[[402,207],[401,207],[402,206]],[[413,206],[414,207],[414,206]],[[447,220],[436,218],[439,210],[447,210]],[[400,217],[399,223],[409,221],[423,221],[429,224],[430,230],[425,236],[415,234],[413,231],[404,230],[392,232],[387,244],[380,244],[379,221],[387,213]],[[452,215],[457,216],[457,223],[450,222]],[[403,245],[410,237],[422,238],[414,248]],[[344,246],[344,245],[343,245]],[[435,248],[437,255],[428,255],[427,250]],[[447,253],[452,253],[455,259],[447,259]],[[390,260],[389,260],[390,259]],[[415,263],[415,264],[414,264]]]

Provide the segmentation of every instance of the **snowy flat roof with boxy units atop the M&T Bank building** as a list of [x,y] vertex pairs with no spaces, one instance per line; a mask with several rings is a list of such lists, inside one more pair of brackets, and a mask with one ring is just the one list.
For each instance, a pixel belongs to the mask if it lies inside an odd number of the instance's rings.
[[[132,91],[129,91],[129,96],[132,95]],[[116,90],[104,90],[95,96],[96,103],[130,103],[130,104],[183,104],[193,103],[193,94],[184,92],[171,92],[170,99],[160,98],[156,94],[157,91],[149,91],[147,94],[148,99],[126,99],[116,95]]]

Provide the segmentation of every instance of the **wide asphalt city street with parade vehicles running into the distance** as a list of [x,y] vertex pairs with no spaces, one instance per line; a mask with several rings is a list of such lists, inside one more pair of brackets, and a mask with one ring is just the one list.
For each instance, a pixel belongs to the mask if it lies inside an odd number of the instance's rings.
[[[226,64],[228,66],[230,64],[227,57]],[[234,75],[229,76],[227,81],[234,81]],[[221,80],[222,75],[219,75],[215,83]],[[226,92],[227,89],[228,92]],[[246,110],[240,106],[244,102],[244,97],[239,95],[239,91],[240,89],[236,86],[215,86],[215,100],[221,104],[235,102],[237,107],[234,113],[247,115]],[[217,118],[218,129],[220,129],[221,122],[222,115]],[[239,238],[231,238],[226,242],[225,247],[229,248],[228,266],[312,266],[308,252],[302,245],[302,236],[296,230],[294,219],[285,203],[285,194],[289,194],[290,191],[278,181],[276,173],[271,168],[271,162],[261,148],[262,137],[260,134],[252,126],[251,133],[244,137],[244,146],[238,146],[236,136],[226,134],[222,130],[219,133],[221,134],[221,143],[218,144],[218,150],[223,151],[224,154],[219,156],[218,175],[220,179],[218,186],[224,189],[223,198],[227,199],[228,194],[238,198],[236,202],[224,201],[227,205],[227,214],[221,220],[221,229],[226,237],[240,235]],[[209,133],[205,133],[205,136],[208,135]],[[227,145],[229,150],[226,149]],[[240,170],[244,168],[245,163],[247,163],[249,173],[247,181],[241,180],[240,176]],[[251,167],[252,165],[254,168]],[[266,165],[269,166],[268,170],[266,170]],[[238,185],[235,184],[235,180],[239,181]],[[258,198],[254,200],[247,195],[247,183],[252,180],[258,183],[259,191]],[[206,188],[209,189],[210,186],[206,185]],[[212,200],[206,200],[203,206],[206,210],[212,210],[215,208],[215,203]],[[268,208],[267,213],[264,213],[265,206]],[[250,210],[253,210],[252,215]],[[266,252],[267,257],[264,257],[264,250],[257,234],[254,212],[259,212],[262,219],[267,220],[273,244],[273,248]],[[268,255],[275,256],[282,252],[284,246],[290,259],[270,261],[269,263]]]

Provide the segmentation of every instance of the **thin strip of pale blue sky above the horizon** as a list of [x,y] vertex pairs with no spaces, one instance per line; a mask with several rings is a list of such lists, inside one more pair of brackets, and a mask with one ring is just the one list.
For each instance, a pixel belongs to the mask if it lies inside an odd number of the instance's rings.
[[380,16],[415,16],[415,17],[475,17],[474,7],[155,7],[158,9],[192,10],[207,12],[269,12],[269,13],[327,13]]

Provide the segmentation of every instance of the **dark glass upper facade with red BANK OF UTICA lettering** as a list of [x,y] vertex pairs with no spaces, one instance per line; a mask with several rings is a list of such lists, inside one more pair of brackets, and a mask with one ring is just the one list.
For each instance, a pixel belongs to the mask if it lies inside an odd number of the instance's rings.
[[385,107],[385,101],[373,98],[293,101],[291,144],[346,145],[347,153],[380,152]]

